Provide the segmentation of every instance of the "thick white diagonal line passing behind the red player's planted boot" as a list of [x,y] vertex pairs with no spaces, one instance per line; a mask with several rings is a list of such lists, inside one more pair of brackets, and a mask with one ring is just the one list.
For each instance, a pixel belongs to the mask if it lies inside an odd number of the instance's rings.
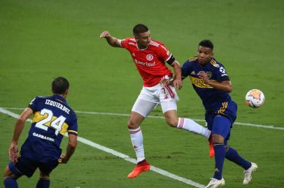
[[[20,116],[19,114],[13,113],[12,111],[8,111],[6,109],[3,109],[2,107],[0,107],[0,112],[1,113],[5,113],[8,116],[11,116],[13,118],[18,118]],[[17,108],[14,108],[14,109],[17,109]],[[78,112],[78,113],[80,113],[80,112]],[[120,113],[118,113],[118,114],[120,114]],[[28,119],[27,121],[29,121],[31,123],[31,119]],[[125,161],[127,161],[127,162],[132,162],[132,163],[136,164],[136,159],[133,159],[133,158],[129,157],[128,155],[125,155],[125,154],[123,154],[121,152],[117,152],[117,151],[115,151],[115,150],[113,150],[111,148],[107,148],[105,146],[101,146],[98,143],[94,143],[94,142],[92,142],[90,140],[87,140],[87,139],[84,139],[83,137],[80,137],[80,136],[78,136],[78,141],[80,141],[82,143],[85,143],[88,146],[92,146],[93,148],[97,148],[99,150],[103,150],[104,152],[108,152],[108,153],[110,153],[112,155],[115,155],[117,157],[125,159]],[[204,185],[200,185],[199,183],[194,182],[192,180],[187,180],[185,178],[182,178],[182,177],[180,177],[178,175],[175,175],[173,173],[170,173],[168,171],[164,171],[163,169],[159,169],[159,168],[157,168],[155,166],[151,165],[151,169],[150,170],[151,171],[155,171],[156,173],[159,173],[159,174],[164,175],[166,177],[172,178],[174,180],[178,180],[180,182],[184,182],[184,183],[186,183],[188,185],[192,185],[194,187],[199,187],[199,188],[204,188]]]

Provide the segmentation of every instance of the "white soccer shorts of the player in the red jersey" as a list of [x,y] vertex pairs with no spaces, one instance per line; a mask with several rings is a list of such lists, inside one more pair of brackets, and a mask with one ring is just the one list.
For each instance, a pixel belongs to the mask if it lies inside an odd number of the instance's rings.
[[173,86],[163,86],[162,84],[152,87],[143,86],[132,107],[132,111],[141,114],[145,118],[159,104],[162,106],[163,113],[169,110],[177,110],[176,103],[178,100],[176,89]]

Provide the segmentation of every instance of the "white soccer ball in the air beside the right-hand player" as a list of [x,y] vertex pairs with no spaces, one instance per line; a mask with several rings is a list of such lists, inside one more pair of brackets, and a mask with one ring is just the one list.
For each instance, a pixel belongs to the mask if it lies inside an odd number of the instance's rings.
[[252,89],[246,93],[246,105],[252,108],[259,108],[264,104],[264,94],[258,89]]

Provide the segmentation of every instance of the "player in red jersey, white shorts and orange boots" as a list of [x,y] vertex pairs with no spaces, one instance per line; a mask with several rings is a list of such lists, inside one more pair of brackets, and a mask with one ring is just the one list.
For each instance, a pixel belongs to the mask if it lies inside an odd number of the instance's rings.
[[[143,79],[143,88],[132,107],[127,124],[137,157],[137,165],[132,173],[129,173],[128,178],[135,178],[139,173],[150,170],[150,164],[145,160],[140,125],[158,104],[162,106],[166,123],[171,127],[201,134],[207,139],[211,134],[209,130],[189,118],[178,118],[176,104],[178,95],[175,88],[180,89],[183,83],[180,65],[171,52],[162,42],[152,40],[149,29],[143,24],[134,26],[133,34],[134,37],[123,40],[112,37],[108,31],[103,31],[100,36],[106,38],[112,47],[127,49]],[[175,75],[166,67],[165,63],[169,63],[173,67]]]

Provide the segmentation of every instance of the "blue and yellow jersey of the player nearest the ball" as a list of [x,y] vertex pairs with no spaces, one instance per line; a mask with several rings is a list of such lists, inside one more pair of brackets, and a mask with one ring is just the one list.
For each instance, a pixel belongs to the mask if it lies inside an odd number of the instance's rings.
[[200,65],[197,57],[190,58],[183,64],[182,78],[190,77],[192,86],[197,92],[204,104],[206,111],[218,111],[220,113],[225,111],[226,102],[231,102],[229,93],[225,91],[219,91],[212,86],[204,83],[197,74],[199,71],[204,71],[208,75],[208,78],[218,82],[229,81],[229,77],[224,66],[219,63],[215,58],[211,58],[211,61],[205,65]]

